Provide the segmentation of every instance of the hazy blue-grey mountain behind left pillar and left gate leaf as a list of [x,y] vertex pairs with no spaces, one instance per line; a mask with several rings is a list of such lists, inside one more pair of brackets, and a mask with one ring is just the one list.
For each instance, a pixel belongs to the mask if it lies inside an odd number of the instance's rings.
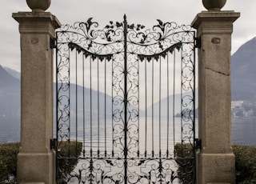
[[[0,66],[0,143],[17,142],[19,140],[21,114],[21,85],[18,79],[19,76],[20,74],[15,70]],[[56,84],[54,83],[53,85],[55,94]],[[58,84],[58,87],[59,86],[60,84]],[[85,95],[83,96],[83,94]],[[69,109],[71,126],[72,124],[75,125],[76,121],[78,124],[82,123],[83,110],[85,111],[86,122],[90,121],[91,117],[93,122],[98,121],[98,118],[100,118],[100,122],[103,123],[102,119],[105,118],[105,112],[106,118],[112,118],[112,97],[108,94],[70,84],[70,91],[62,92],[62,95],[70,95]],[[56,95],[54,95],[54,116],[56,115],[55,98]],[[63,98],[63,96],[62,99],[64,100],[60,105],[67,105],[65,104],[65,98]],[[78,102],[77,105],[76,102]],[[106,106],[102,105],[104,102],[106,102]],[[117,109],[122,110],[122,105],[123,103],[118,97],[114,98],[113,109],[117,112],[115,113],[115,118],[120,118],[120,113],[118,113],[120,111]],[[77,118],[76,114],[78,115]],[[55,120],[56,117],[54,117],[54,121]]]

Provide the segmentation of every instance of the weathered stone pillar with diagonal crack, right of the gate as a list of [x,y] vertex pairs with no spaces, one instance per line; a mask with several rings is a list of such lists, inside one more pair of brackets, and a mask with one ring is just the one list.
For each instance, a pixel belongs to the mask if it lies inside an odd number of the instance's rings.
[[[209,1],[208,1],[209,2]],[[213,1],[214,2],[214,1]],[[198,30],[198,137],[197,183],[235,183],[231,147],[230,49],[234,11],[199,13],[192,26]]]

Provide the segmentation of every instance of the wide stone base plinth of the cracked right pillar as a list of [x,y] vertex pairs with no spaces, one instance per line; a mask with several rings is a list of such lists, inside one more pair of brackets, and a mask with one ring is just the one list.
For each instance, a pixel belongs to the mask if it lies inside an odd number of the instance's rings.
[[234,154],[197,154],[198,183],[234,184],[235,159]]

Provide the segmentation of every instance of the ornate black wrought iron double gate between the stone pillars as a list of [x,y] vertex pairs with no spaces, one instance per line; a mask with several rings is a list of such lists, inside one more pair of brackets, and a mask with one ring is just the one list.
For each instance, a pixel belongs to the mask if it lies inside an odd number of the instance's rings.
[[195,35],[89,18],[56,33],[58,183],[195,183]]

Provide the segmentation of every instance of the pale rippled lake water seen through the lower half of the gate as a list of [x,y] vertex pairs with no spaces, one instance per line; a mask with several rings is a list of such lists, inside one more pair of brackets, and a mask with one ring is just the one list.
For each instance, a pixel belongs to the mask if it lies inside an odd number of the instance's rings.
[[[92,123],[91,129],[86,125],[85,130],[80,125],[78,134],[75,134],[75,127],[71,128],[70,138],[82,142],[86,154],[81,154],[82,159],[74,169],[72,173],[74,177],[69,183],[89,183],[90,179],[93,179],[92,183],[124,183],[125,156],[122,125],[122,121],[110,121],[106,126],[104,123]],[[161,183],[159,178],[162,175],[162,182],[172,181],[171,183],[178,184],[179,179],[174,178],[178,174],[178,163],[174,160],[174,145],[182,140],[186,143],[193,142],[192,127],[191,120],[186,122],[181,118],[169,118],[168,121],[167,117],[155,117],[153,120],[141,117],[139,121],[137,119],[137,121],[128,122],[128,183]],[[91,159],[90,149],[93,150]],[[112,150],[114,150],[114,156],[111,155]],[[167,150],[169,154],[166,154]],[[153,151],[154,154],[152,154]],[[94,169],[90,170],[90,166]],[[159,171],[159,168],[162,168],[162,171]]]

